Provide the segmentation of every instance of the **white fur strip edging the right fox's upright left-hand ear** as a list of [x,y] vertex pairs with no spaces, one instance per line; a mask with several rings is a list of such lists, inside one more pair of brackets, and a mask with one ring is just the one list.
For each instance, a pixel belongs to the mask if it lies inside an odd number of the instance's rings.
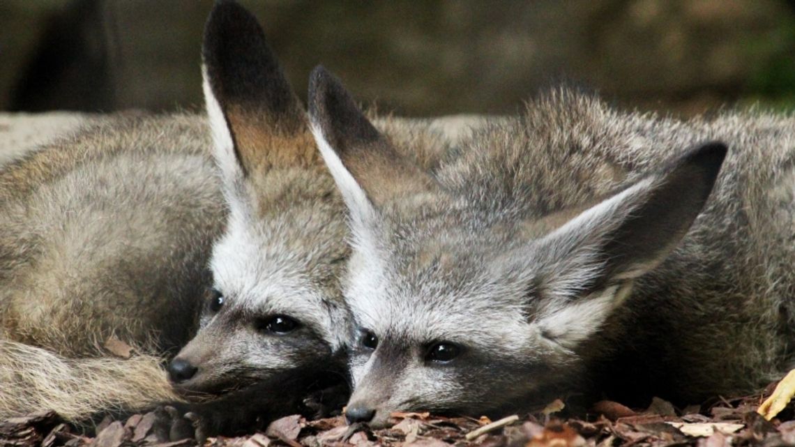
[[365,223],[370,221],[375,216],[375,208],[367,198],[366,192],[355,180],[351,172],[347,170],[339,155],[332,149],[319,126],[312,124],[312,135],[315,137],[320,155],[328,166],[329,172],[332,173],[334,181],[342,193],[343,200],[347,205],[348,210],[351,212],[351,220],[353,223]]

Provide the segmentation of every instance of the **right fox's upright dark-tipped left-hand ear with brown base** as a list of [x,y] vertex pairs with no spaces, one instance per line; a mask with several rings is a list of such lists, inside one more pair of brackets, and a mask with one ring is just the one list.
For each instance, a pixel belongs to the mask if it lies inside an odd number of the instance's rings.
[[430,177],[397,153],[325,68],[312,72],[308,98],[312,134],[351,211],[429,188]]

